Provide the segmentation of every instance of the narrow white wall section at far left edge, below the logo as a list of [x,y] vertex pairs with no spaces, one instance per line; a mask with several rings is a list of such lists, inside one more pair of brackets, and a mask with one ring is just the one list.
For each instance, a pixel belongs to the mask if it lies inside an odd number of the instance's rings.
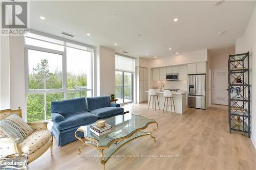
[[10,56],[9,36],[1,36],[1,105],[0,110],[10,109]]

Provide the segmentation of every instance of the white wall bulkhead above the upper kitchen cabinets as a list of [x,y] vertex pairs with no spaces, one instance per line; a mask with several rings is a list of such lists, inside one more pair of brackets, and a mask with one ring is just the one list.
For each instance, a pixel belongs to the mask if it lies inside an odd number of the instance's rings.
[[148,60],[148,67],[164,67],[207,61],[207,50]]

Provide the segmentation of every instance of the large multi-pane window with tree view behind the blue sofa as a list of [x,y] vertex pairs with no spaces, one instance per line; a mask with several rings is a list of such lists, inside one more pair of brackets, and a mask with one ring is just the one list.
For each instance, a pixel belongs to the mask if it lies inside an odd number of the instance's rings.
[[90,47],[36,34],[25,37],[28,122],[51,118],[51,102],[92,96]]

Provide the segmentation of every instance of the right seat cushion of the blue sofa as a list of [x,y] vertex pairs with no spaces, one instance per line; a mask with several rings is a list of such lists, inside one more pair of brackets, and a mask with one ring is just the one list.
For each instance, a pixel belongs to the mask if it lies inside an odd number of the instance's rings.
[[99,118],[103,117],[109,117],[109,116],[114,116],[116,114],[123,113],[123,108],[121,107],[104,107],[104,108],[99,108],[90,111],[90,113],[95,114]]

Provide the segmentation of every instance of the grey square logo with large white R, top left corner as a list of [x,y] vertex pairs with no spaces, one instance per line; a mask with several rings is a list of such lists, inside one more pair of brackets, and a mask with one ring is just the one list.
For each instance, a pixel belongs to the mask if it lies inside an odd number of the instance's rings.
[[27,2],[2,2],[2,28],[27,29]]

